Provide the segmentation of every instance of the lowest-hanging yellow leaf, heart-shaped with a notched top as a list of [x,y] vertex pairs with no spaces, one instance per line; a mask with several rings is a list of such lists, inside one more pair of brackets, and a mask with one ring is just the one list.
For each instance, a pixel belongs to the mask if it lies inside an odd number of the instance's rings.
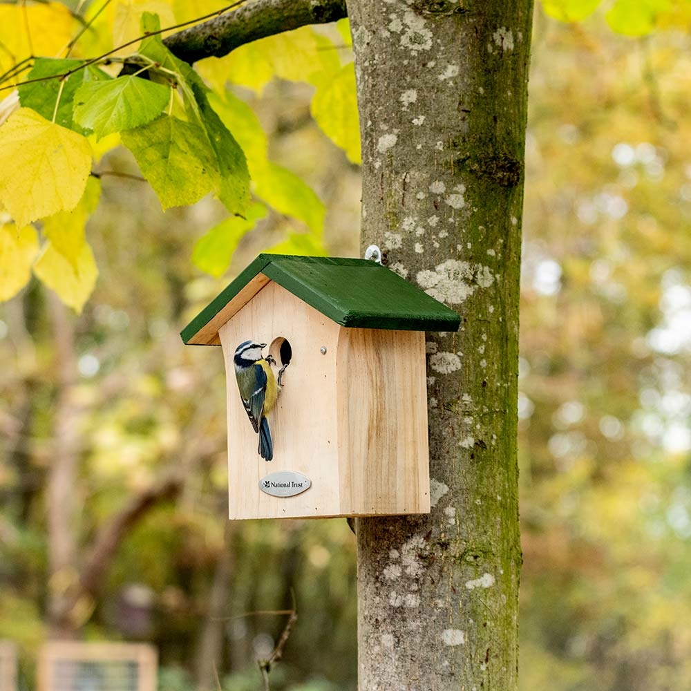
[[75,271],[50,240],[44,245],[44,251],[34,265],[34,273],[77,314],[82,312],[98,278],[98,269],[88,243],[82,245]]

